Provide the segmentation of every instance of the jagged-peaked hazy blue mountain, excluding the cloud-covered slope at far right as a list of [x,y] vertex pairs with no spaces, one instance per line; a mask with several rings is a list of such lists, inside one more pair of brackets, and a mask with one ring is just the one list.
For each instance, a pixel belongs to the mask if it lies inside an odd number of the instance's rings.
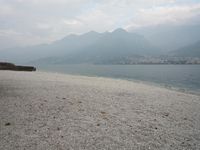
[[47,63],[102,63],[121,57],[157,55],[158,48],[143,36],[123,29],[113,32],[69,35],[51,44],[26,48],[15,48],[2,52],[1,57],[15,59],[14,62]]

